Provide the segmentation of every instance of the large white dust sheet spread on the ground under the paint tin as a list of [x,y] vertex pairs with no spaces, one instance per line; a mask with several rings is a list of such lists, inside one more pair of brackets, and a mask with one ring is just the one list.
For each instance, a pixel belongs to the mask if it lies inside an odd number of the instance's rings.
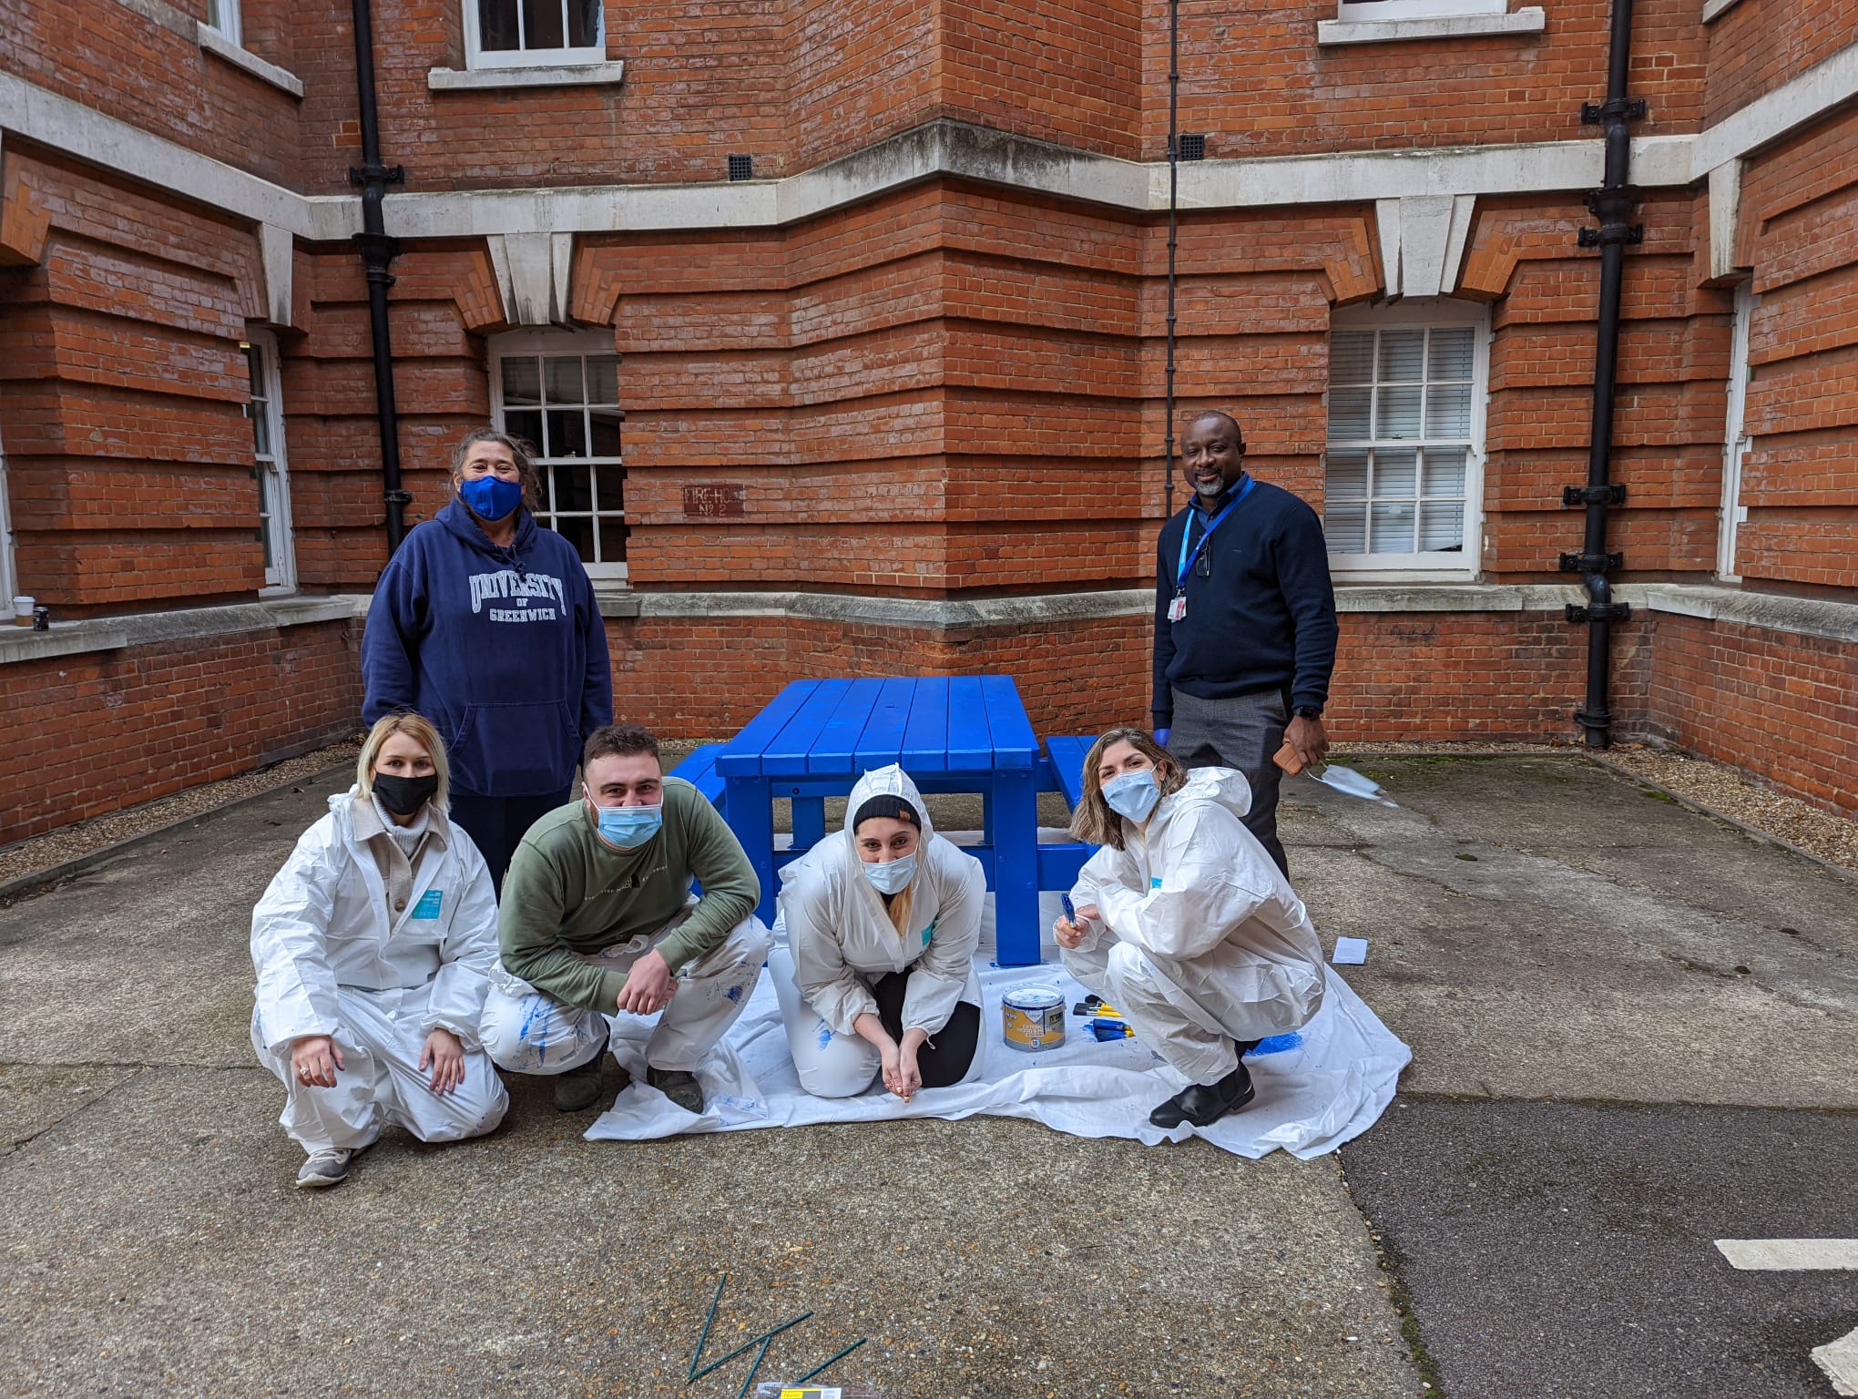
[[[988,899],[990,903],[990,899]],[[1050,955],[1050,953],[1048,953]],[[985,959],[985,953],[983,953]],[[905,1117],[962,1118],[975,1113],[1024,1117],[1074,1137],[1133,1137],[1148,1144],[1206,1137],[1237,1156],[1273,1150],[1308,1159],[1330,1152],[1375,1124],[1394,1100],[1394,1085],[1412,1052],[1332,972],[1323,1009],[1297,1035],[1267,1040],[1245,1063],[1258,1098],[1210,1128],[1161,1131],[1150,1109],[1185,1079],[1139,1039],[1098,1042],[1068,1014],[1085,990],[1055,962],[996,968],[979,964],[979,1072],[966,1083],[925,1089],[909,1104],[881,1087],[855,1098],[814,1098],[803,1091],[788,1053],[775,987],[764,972],[741,1018],[697,1070],[706,1109],[686,1113],[645,1083],[643,1046],[652,1022],[613,1020],[611,1048],[634,1083],[587,1130],[589,1141],[648,1141],[680,1131],[739,1131],[812,1122],[888,1122]],[[1024,985],[1065,994],[1065,1044],[1026,1053],[1000,1037],[1000,996]]]

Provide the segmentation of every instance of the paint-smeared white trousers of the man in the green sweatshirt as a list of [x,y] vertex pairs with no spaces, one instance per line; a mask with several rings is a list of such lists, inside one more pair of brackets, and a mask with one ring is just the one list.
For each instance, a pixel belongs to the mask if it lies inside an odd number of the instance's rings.
[[[626,972],[684,918],[687,914],[656,933],[639,933],[628,942],[587,953],[582,961]],[[747,1007],[771,946],[767,927],[751,914],[710,951],[687,962],[673,981],[676,990],[671,1003],[658,1014],[658,1027],[645,1042],[645,1063],[652,1068],[695,1070]],[[483,1001],[483,1046],[500,1066],[517,1074],[565,1074],[600,1053],[617,1014],[617,1007],[604,1014],[563,1005],[498,962],[491,972],[491,994]]]

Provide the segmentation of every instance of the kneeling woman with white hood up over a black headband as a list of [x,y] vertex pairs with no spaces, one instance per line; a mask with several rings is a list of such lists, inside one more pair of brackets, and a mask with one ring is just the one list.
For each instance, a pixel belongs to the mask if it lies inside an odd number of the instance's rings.
[[981,1037],[987,871],[942,840],[892,764],[845,803],[845,832],[780,871],[788,951],[769,970],[801,1087],[864,1092],[877,1074],[909,1102],[961,1083]]

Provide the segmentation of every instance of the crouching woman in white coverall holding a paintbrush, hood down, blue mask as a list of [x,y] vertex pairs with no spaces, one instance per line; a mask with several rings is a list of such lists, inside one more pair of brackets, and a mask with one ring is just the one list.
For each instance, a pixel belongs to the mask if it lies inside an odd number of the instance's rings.
[[1148,734],[1113,728],[1083,760],[1078,840],[1102,845],[1053,925],[1065,970],[1128,1016],[1187,1087],[1158,1128],[1204,1128],[1256,1089],[1243,1055],[1323,1005],[1323,949],[1302,899],[1241,817],[1230,767],[1182,771]]

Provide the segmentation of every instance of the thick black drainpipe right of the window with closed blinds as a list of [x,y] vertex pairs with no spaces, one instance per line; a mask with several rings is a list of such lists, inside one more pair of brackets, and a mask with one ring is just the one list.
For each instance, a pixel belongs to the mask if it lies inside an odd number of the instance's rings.
[[1611,738],[1613,710],[1607,706],[1607,676],[1611,667],[1609,641],[1613,622],[1631,615],[1631,608],[1613,600],[1607,572],[1624,563],[1624,556],[1607,554],[1607,505],[1626,502],[1626,487],[1609,479],[1613,466],[1613,401],[1620,347],[1620,279],[1626,269],[1626,243],[1644,242],[1644,225],[1628,223],[1633,212],[1633,191],[1628,186],[1631,167],[1631,134],[1628,121],[1646,113],[1642,98],[1626,97],[1626,71],[1631,63],[1631,0],[1613,0],[1613,50],[1607,59],[1607,100],[1583,102],[1581,121],[1589,126],[1605,124],[1607,163],[1603,184],[1587,195],[1587,208],[1598,229],[1581,229],[1579,245],[1600,249],[1600,331],[1594,346],[1594,425],[1587,453],[1587,485],[1570,485],[1561,492],[1563,505],[1587,507],[1587,535],[1579,554],[1563,554],[1561,570],[1581,574],[1587,585],[1587,606],[1568,604],[1570,622],[1587,622],[1587,704],[1574,712],[1576,723],[1587,730],[1587,747],[1603,749]]

